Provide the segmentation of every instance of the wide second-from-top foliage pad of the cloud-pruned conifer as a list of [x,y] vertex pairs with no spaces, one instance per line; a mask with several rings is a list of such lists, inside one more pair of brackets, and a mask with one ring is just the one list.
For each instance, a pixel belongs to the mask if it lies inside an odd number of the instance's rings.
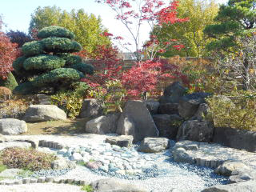
[[54,53],[72,53],[82,50],[82,46],[69,38],[44,38],[41,40],[44,50]]

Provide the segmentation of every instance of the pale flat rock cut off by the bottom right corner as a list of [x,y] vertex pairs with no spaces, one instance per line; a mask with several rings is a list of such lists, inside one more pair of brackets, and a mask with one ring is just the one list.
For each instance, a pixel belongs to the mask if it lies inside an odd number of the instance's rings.
[[254,192],[256,191],[256,182],[238,182],[230,185],[211,186],[202,192]]

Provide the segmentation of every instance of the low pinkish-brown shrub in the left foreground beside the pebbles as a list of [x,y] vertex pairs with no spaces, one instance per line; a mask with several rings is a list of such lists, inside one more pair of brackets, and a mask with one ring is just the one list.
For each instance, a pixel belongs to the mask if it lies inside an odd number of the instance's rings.
[[1,151],[0,159],[2,164],[8,168],[34,171],[50,169],[50,163],[56,157],[53,154],[42,153],[34,149],[11,147]]

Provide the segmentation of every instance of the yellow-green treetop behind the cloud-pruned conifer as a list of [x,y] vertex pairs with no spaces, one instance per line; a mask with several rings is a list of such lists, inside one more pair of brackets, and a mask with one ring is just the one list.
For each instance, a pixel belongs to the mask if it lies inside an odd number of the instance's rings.
[[31,14],[30,34],[33,30],[42,30],[46,26],[62,26],[75,34],[74,40],[79,42],[83,49],[92,52],[98,45],[110,44],[110,39],[102,36],[106,28],[102,19],[94,14],[86,14],[83,9],[61,10],[57,6],[38,7]]

